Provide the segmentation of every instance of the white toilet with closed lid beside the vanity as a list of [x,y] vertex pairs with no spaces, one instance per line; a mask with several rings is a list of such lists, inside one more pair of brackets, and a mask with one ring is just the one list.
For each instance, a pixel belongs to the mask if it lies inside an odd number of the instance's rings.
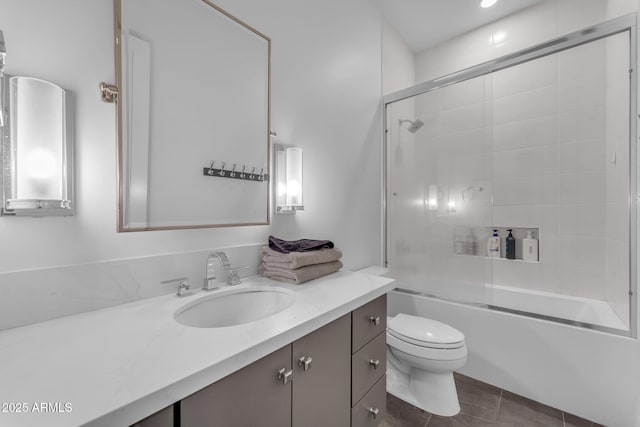
[[460,412],[453,371],[467,361],[464,335],[408,314],[387,318],[387,391],[441,416]]

